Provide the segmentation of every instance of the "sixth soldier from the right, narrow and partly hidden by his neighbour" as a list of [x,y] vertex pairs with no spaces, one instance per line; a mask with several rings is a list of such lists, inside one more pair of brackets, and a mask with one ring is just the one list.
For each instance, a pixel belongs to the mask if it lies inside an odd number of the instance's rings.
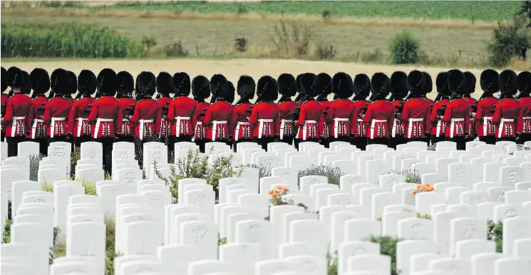
[[450,99],[450,90],[448,88],[448,72],[440,72],[435,78],[435,86],[437,87],[437,98],[435,103],[431,105],[431,144],[436,144],[439,141],[446,139],[446,127],[440,117],[444,115],[444,108]]

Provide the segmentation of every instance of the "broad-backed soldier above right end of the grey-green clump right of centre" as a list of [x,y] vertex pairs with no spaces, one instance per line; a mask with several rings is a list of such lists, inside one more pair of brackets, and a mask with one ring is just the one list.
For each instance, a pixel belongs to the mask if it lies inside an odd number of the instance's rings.
[[346,73],[336,73],[331,81],[331,91],[336,99],[330,103],[326,123],[331,125],[331,141],[351,142],[351,122],[354,118],[354,103],[349,98],[354,94],[354,83]]

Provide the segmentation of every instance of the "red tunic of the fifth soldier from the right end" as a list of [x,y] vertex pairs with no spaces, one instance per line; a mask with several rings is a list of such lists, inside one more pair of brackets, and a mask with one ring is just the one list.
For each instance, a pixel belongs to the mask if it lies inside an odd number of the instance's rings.
[[445,123],[446,137],[464,137],[470,124],[468,101],[463,98],[448,101],[442,121]]

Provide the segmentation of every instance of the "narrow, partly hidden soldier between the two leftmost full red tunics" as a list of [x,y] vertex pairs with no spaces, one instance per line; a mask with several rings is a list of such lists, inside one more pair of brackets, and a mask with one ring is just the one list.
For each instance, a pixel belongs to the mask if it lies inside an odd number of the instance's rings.
[[31,130],[29,138],[33,142],[38,142],[38,151],[43,155],[48,155],[48,140],[46,138],[46,123],[44,123],[44,105],[48,102],[46,93],[50,90],[50,76],[43,68],[35,68],[29,75],[33,94],[31,102],[33,103],[33,118],[31,121]]

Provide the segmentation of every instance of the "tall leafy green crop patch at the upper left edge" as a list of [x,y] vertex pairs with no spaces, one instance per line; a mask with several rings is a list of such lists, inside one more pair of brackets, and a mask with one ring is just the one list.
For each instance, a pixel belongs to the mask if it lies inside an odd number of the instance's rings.
[[144,48],[110,28],[78,24],[1,24],[1,56],[125,58]]

